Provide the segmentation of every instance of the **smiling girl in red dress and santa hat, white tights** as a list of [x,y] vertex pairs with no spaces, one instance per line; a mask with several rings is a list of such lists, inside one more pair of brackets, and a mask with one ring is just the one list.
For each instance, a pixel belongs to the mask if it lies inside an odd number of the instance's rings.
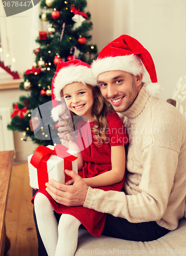
[[[59,62],[52,80],[52,97],[55,98],[55,108],[52,110],[54,120],[59,120],[59,116],[68,116],[64,104],[60,105],[56,101],[64,99],[70,111],[72,130],[78,131],[75,136],[67,133],[63,137],[69,141],[69,148],[78,152],[78,175],[88,186],[121,191],[125,175],[124,144],[128,143],[128,138],[123,122],[109,110],[107,101],[102,97],[90,66],[81,60]],[[88,120],[91,133],[87,130],[85,119]],[[73,184],[73,180],[66,184]],[[61,205],[42,190],[38,190],[33,201],[39,232],[48,256],[73,256],[81,224],[91,234],[100,237],[106,214],[83,206]],[[62,214],[59,224],[54,210]]]

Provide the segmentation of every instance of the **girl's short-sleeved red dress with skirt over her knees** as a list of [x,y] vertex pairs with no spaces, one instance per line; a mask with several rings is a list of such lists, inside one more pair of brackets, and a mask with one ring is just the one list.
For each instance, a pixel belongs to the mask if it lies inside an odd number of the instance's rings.
[[[107,137],[109,138],[108,143],[102,143],[101,146],[96,145],[94,142],[97,142],[97,140],[94,138],[94,134],[91,132],[91,134],[89,134],[87,137],[87,140],[90,140],[90,136],[92,136],[92,143],[90,144],[90,146],[88,146],[87,148],[84,147],[84,149],[82,148],[83,143],[78,144],[79,148],[82,149],[82,155],[84,159],[84,167],[82,170],[78,171],[78,175],[82,178],[91,178],[111,170],[111,146],[125,145],[128,143],[128,137],[125,127],[119,116],[115,112],[110,111],[109,115],[107,116],[107,120]],[[93,125],[95,125],[95,122],[90,122],[90,126],[92,127]],[[87,128],[85,125],[81,128],[81,134],[86,133]],[[81,138],[78,138],[78,141],[82,141]],[[97,188],[105,191],[121,191],[124,184],[124,179],[125,177],[121,182],[117,184]],[[44,194],[48,198],[56,212],[58,212],[59,214],[69,214],[74,216],[84,225],[84,227],[91,234],[96,237],[100,237],[107,214],[83,206],[67,207],[65,205],[57,203],[46,191],[38,190],[37,193]],[[32,203],[34,203],[35,196],[31,200]]]

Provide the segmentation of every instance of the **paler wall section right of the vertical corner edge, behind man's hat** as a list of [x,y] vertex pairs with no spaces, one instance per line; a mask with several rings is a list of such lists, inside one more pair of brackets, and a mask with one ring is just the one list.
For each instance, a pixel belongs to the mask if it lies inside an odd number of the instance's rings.
[[131,35],[151,53],[164,100],[172,97],[179,77],[186,75],[185,12],[185,0],[133,0]]

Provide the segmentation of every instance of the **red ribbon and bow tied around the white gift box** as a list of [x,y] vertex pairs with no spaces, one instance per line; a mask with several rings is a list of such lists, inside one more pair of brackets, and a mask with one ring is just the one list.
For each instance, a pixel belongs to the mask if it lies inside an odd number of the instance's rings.
[[[72,161],[77,157],[67,152],[68,148],[64,145],[57,144],[54,150],[45,146],[38,146],[36,152],[31,158],[31,164],[37,169],[39,189],[45,190],[45,183],[48,182],[47,161],[51,155],[56,155],[64,159],[64,169],[72,170]],[[65,174],[65,182],[71,177]]]

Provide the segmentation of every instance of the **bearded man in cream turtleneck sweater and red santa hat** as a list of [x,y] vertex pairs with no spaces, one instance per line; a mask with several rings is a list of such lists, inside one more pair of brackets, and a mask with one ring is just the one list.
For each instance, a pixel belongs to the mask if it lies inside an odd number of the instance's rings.
[[[144,65],[144,66],[143,66]],[[151,83],[142,81],[144,67]],[[172,105],[156,98],[161,92],[153,60],[136,39],[121,35],[92,63],[101,94],[123,118],[130,140],[123,191],[88,187],[66,170],[73,185],[54,180],[46,190],[59,203],[107,212],[103,234],[151,241],[178,226],[186,195],[186,119]],[[60,136],[65,132],[59,122]]]

